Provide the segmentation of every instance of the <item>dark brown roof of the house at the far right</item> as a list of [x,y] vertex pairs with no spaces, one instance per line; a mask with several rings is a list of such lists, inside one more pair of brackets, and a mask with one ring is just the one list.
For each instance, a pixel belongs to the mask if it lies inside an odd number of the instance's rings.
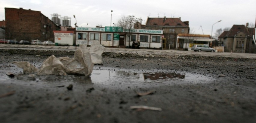
[[245,25],[233,25],[233,27],[227,33],[227,37],[234,37],[239,32],[243,32],[245,35],[249,35]]

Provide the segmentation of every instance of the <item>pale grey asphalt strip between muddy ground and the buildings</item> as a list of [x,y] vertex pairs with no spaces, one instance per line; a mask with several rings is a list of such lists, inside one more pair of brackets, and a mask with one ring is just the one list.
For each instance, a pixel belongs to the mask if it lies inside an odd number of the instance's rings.
[[[57,51],[75,51],[78,47],[74,46],[44,46],[44,45],[18,45],[18,44],[0,44],[0,49],[21,49],[21,50],[57,50]],[[211,53],[211,52],[194,52],[183,50],[153,50],[153,49],[130,49],[130,48],[110,48],[106,47],[105,53],[142,53],[153,55],[197,55],[197,56],[224,56],[224,57],[241,57],[256,58],[253,53]],[[73,52],[70,52],[73,54]],[[57,52],[56,52],[57,55]]]

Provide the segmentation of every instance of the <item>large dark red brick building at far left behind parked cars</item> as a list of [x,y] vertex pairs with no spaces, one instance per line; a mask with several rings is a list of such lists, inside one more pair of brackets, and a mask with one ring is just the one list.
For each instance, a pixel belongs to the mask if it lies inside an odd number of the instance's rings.
[[53,30],[58,27],[40,11],[23,8],[5,8],[5,38],[41,41],[54,41]]

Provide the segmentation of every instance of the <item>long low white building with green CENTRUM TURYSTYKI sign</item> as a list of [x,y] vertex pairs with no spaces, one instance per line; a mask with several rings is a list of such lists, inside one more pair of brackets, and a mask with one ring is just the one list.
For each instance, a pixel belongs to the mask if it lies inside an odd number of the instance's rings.
[[123,30],[122,27],[76,27],[76,45],[99,41],[107,47],[131,47],[133,41],[141,48],[162,48],[162,30]]

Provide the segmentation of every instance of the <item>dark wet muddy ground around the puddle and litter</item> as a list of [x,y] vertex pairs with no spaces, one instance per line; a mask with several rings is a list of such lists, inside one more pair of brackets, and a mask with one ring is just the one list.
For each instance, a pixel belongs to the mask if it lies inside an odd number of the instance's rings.
[[[12,64],[26,61],[40,67],[48,56],[38,55],[0,53],[1,123],[256,121],[256,59],[104,53],[103,64],[95,65],[95,69],[198,76],[191,80],[137,83],[133,79],[111,79],[108,84],[76,75],[24,75]],[[60,56],[63,55],[56,55]],[[7,72],[12,72],[14,78]],[[72,90],[67,89],[70,84]],[[153,93],[136,94],[148,91]],[[137,105],[162,110],[130,109]]]

